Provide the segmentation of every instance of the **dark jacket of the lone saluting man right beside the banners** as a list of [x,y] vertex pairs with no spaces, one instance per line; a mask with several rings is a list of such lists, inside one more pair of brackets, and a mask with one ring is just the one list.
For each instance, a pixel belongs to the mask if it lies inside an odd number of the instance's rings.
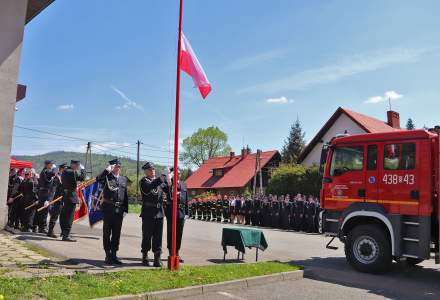
[[102,191],[104,213],[128,213],[128,178],[126,176],[116,177],[113,173],[104,170],[96,177],[96,180],[104,187]]

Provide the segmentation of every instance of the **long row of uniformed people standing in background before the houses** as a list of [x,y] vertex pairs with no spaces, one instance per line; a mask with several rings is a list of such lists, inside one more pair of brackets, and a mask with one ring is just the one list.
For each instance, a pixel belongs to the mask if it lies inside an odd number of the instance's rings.
[[210,196],[189,202],[192,219],[319,232],[319,199],[297,194],[256,197]]

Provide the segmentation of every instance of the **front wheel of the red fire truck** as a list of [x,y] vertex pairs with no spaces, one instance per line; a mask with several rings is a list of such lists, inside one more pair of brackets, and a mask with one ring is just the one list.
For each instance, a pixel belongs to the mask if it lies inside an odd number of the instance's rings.
[[356,226],[347,235],[345,257],[358,271],[366,273],[387,271],[392,262],[388,235],[378,225]]

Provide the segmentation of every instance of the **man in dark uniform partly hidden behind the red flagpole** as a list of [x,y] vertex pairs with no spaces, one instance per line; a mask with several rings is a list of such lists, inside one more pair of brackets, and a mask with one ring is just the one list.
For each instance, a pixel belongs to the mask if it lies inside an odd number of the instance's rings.
[[[171,168],[170,172],[173,172]],[[166,185],[164,190],[167,193],[165,215],[167,217],[167,248],[168,253],[171,256],[171,243],[172,243],[172,208],[173,208],[173,184],[175,180],[171,179],[171,185]],[[176,255],[179,256],[180,262],[184,260],[180,257],[180,247],[182,245],[183,227],[185,225],[185,219],[188,216],[188,190],[184,182],[177,180],[177,223],[176,223]]]

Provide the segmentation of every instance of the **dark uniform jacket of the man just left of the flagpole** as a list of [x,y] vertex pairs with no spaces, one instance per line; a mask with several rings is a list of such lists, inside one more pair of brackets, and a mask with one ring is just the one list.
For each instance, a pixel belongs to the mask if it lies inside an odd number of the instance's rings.
[[140,180],[139,188],[142,194],[142,218],[162,219],[165,216],[163,201],[166,194],[163,188],[166,183],[158,178],[144,177]]

